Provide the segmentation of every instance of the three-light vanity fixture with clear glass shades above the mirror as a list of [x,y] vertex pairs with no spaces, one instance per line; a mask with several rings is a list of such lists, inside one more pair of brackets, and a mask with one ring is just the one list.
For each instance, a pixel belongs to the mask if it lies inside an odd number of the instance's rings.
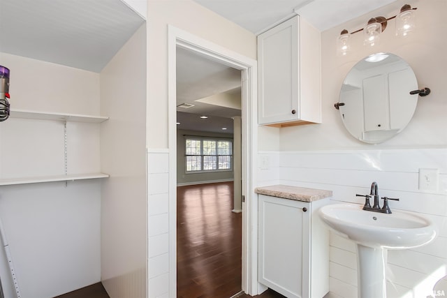
[[400,13],[393,17],[372,17],[367,25],[356,31],[349,33],[344,29],[337,38],[337,52],[345,56],[351,50],[351,34],[363,31],[363,44],[374,46],[379,41],[380,34],[386,29],[389,20],[396,19],[396,36],[406,36],[416,27],[416,15],[409,4],[405,4],[400,8]]

